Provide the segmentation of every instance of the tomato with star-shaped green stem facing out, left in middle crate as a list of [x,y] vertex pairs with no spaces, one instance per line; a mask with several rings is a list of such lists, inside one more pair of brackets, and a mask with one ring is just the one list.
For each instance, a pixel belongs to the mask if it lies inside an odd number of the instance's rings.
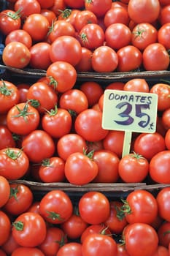
[[7,113],[7,127],[18,135],[28,135],[39,125],[39,112],[28,103],[18,103]]

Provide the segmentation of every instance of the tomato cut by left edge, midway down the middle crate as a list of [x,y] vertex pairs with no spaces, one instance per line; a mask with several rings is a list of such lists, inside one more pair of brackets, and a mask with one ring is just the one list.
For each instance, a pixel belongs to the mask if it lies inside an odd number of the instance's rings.
[[0,149],[15,147],[15,140],[12,137],[12,132],[9,131],[6,125],[0,125]]

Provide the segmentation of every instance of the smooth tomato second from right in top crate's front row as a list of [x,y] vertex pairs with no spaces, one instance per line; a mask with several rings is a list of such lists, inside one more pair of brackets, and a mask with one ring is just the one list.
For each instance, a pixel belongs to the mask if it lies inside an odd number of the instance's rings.
[[126,72],[139,69],[142,65],[142,53],[134,45],[127,45],[117,50],[117,71]]

